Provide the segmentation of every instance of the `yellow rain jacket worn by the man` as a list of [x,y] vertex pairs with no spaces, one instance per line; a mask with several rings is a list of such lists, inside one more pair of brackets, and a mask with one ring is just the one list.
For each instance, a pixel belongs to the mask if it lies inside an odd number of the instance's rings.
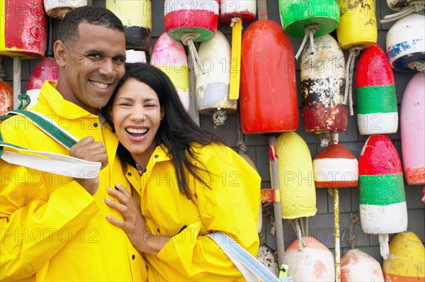
[[[147,281],[143,257],[125,232],[106,221],[122,218],[104,203],[115,183],[130,187],[115,158],[118,139],[106,123],[55,90],[42,86],[32,111],[52,118],[75,137],[93,136],[108,152],[108,167],[91,196],[63,175],[18,167],[0,160],[0,280],[13,281]],[[0,125],[5,142],[31,150],[68,154],[69,151],[18,115]]]

